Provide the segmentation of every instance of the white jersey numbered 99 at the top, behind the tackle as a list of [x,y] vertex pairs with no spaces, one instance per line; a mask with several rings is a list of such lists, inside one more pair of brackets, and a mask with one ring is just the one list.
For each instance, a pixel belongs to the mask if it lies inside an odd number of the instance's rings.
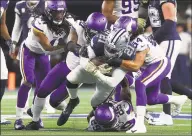
[[139,0],[115,0],[113,15],[138,18]]

